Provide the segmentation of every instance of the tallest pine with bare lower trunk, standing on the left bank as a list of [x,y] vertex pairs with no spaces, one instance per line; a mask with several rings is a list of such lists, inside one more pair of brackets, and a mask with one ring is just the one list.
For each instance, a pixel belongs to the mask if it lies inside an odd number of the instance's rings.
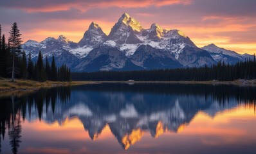
[[15,55],[16,53],[21,53],[21,33],[19,33],[19,27],[17,22],[12,24],[12,30],[10,31],[10,37],[8,39],[10,43],[10,49],[12,52],[12,81],[14,81],[14,71],[15,71]]

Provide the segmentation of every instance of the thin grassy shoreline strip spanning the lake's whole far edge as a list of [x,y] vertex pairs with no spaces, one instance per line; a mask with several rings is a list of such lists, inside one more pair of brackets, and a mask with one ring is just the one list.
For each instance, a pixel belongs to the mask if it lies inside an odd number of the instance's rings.
[[66,87],[75,85],[87,85],[97,83],[178,83],[178,84],[205,84],[205,85],[237,85],[237,86],[256,86],[256,80],[235,80],[235,81],[45,81],[38,82],[32,80],[16,80],[11,82],[9,79],[0,80],[0,92],[12,91],[35,91],[42,88]]

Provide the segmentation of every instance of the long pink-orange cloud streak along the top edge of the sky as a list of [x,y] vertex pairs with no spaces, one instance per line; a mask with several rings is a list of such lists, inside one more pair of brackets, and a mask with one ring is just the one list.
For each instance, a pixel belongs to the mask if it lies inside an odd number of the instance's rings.
[[[41,3],[41,2],[39,2]],[[169,6],[173,4],[190,4],[192,0],[127,0],[125,2],[120,0],[111,0],[111,1],[66,1],[61,3],[47,3],[47,1],[42,1],[41,6],[39,4],[12,4],[10,8],[16,8],[24,10],[26,12],[55,12],[55,11],[64,11],[70,10],[71,8],[77,8],[81,11],[86,11],[91,8],[109,8],[109,7],[118,7],[118,8],[147,8],[149,6]]]

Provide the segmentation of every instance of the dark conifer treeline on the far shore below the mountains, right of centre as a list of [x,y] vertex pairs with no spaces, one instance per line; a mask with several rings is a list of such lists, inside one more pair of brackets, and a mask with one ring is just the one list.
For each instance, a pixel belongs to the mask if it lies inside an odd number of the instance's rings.
[[256,60],[247,59],[235,65],[218,62],[212,66],[158,69],[149,71],[100,71],[71,73],[72,80],[87,81],[235,81],[256,79]]

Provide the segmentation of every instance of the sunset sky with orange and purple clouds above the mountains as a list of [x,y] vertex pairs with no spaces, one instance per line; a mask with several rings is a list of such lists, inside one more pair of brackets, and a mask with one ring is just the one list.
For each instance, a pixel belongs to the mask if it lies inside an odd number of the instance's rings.
[[0,24],[8,37],[17,22],[23,42],[65,35],[78,42],[92,21],[109,34],[126,12],[143,28],[158,23],[183,31],[198,46],[216,44],[256,53],[255,0],[0,0]]

